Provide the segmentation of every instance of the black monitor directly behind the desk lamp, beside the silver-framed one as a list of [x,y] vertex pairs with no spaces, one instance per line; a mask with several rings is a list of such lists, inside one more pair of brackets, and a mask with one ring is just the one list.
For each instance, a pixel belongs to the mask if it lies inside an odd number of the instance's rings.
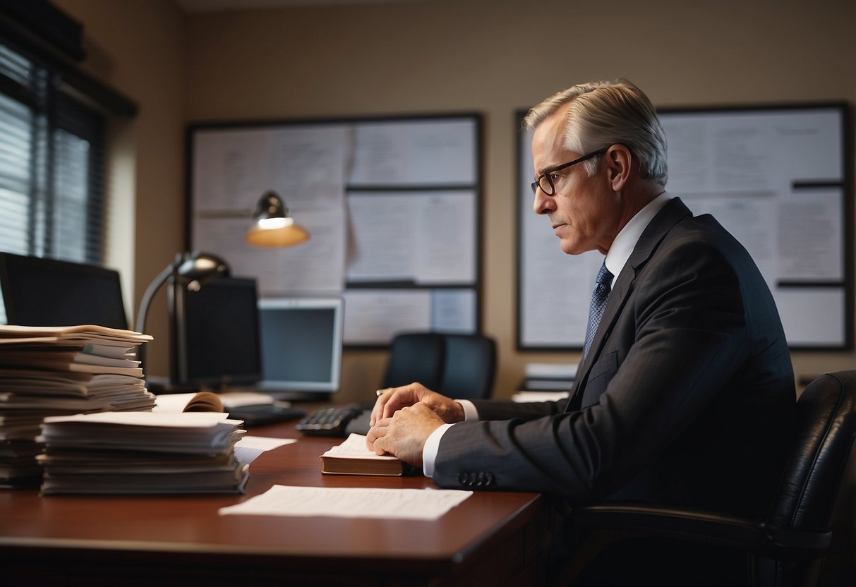
[[179,383],[219,388],[261,378],[256,280],[221,277],[184,292],[177,315]]

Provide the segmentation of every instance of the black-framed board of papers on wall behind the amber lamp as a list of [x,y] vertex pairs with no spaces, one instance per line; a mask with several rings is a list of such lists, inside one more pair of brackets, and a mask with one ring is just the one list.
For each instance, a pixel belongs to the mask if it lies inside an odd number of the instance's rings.
[[[477,332],[480,136],[474,114],[192,124],[187,248],[255,277],[262,298],[342,296],[348,346]],[[244,241],[267,190],[308,241]]]

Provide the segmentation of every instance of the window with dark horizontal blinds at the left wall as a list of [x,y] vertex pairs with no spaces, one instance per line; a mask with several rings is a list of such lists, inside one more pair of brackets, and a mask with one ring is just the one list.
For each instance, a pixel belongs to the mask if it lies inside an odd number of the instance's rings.
[[100,264],[104,119],[0,44],[0,250]]

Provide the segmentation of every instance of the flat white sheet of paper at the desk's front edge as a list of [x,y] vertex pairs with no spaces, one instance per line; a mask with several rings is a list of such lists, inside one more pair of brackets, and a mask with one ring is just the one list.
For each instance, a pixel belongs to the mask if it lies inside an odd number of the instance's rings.
[[370,487],[294,487],[274,485],[218,513],[265,516],[332,516],[335,518],[440,518],[472,491],[458,489],[380,489]]

